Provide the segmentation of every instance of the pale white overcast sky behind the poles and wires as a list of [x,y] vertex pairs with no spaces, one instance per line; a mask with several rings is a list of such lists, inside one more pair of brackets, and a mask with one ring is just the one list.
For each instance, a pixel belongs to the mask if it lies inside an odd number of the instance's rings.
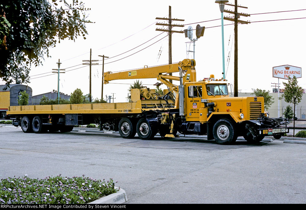
[[[51,72],[52,68],[57,68],[56,62],[61,60],[61,68],[71,70],[83,67],[73,71],[61,74],[60,92],[71,94],[76,88],[80,88],[84,94],[89,93],[89,66],[79,65],[82,60],[89,60],[89,51],[92,49],[92,59],[101,60],[98,55],[108,57],[116,56],[125,51],[148,41],[149,39],[160,34],[161,31],[155,31],[155,17],[168,17],[169,6],[172,7],[172,18],[184,19],[185,21],[174,21],[174,24],[190,24],[206,20],[218,19],[221,17],[218,4],[215,0],[202,1],[94,1],[83,0],[86,7],[91,8],[88,11],[88,19],[95,22],[87,24],[88,35],[86,40],[82,37],[62,41],[55,48],[50,49],[51,57],[46,58],[43,66],[31,68],[30,76]],[[290,3],[289,3],[290,2]],[[234,0],[230,0],[234,4]],[[240,13],[266,13],[276,11],[287,11],[306,9],[306,1],[285,1],[285,0],[238,0],[238,5],[247,6],[248,9],[238,8]],[[234,10],[231,6],[226,9]],[[224,13],[225,16],[232,16]],[[251,17],[241,16],[241,20],[260,21],[260,20],[277,20],[288,18],[306,17],[306,10],[284,13],[271,13],[252,15]],[[163,20],[159,21],[163,22]],[[224,20],[224,24],[231,24],[231,21]],[[305,69],[305,23],[306,19],[298,20],[281,20],[270,22],[259,22],[251,24],[238,25],[238,89],[241,92],[251,92],[252,88],[270,90],[271,83],[277,83],[277,78],[272,78],[272,67],[280,65],[293,65]],[[151,25],[152,24],[152,25]],[[151,26],[149,26],[151,25]],[[192,24],[193,29],[197,24]],[[200,23],[201,26],[212,27],[221,25],[221,20]],[[147,27],[149,26],[149,27]],[[173,30],[187,29],[174,27]],[[147,27],[147,28],[146,28]],[[146,29],[144,29],[146,28]],[[144,29],[144,30],[142,30]],[[234,66],[234,45],[233,40],[234,25],[224,27],[225,56],[227,60],[228,52],[231,50],[229,67],[226,79],[233,83],[233,66]],[[134,34],[134,35],[133,35]],[[131,37],[120,41],[128,36]],[[135,53],[148,45],[158,41],[166,36],[166,32],[156,37],[150,42],[125,53],[121,56],[105,60],[105,63],[115,61]],[[194,36],[195,38],[195,31]],[[230,41],[229,41],[230,39]],[[184,34],[174,33],[172,36],[172,62],[182,61],[186,58],[186,44],[189,39]],[[114,44],[115,43],[115,44]],[[214,74],[215,78],[222,77],[222,44],[221,44],[221,27],[205,29],[204,36],[196,41],[196,71],[197,80],[209,77]],[[230,44],[229,44],[230,43]],[[114,45],[111,45],[114,44]],[[109,46],[111,45],[111,46]],[[106,47],[108,46],[108,47]],[[229,47],[228,47],[229,46]],[[232,46],[232,47],[231,47]],[[162,53],[157,59],[158,52],[162,48]],[[191,45],[192,50],[192,45]],[[86,53],[86,54],[85,54]],[[82,55],[83,54],[83,55]],[[80,56],[81,55],[81,56]],[[189,53],[189,58],[192,58]],[[226,62],[226,61],[225,61]],[[102,64],[102,61],[99,61]],[[121,71],[134,68],[142,68],[144,65],[154,66],[168,64],[168,37],[162,39],[156,44],[129,56],[120,61],[104,65],[104,71]],[[99,72],[99,75],[98,75]],[[49,73],[50,74],[50,73]],[[49,75],[44,74],[44,75]],[[40,75],[40,76],[44,76]],[[102,65],[92,66],[92,95],[94,98],[101,98],[102,83]],[[302,73],[302,76],[304,73]],[[99,78],[98,78],[99,76]],[[32,87],[33,95],[43,94],[51,90],[57,90],[57,74],[52,76],[31,79],[29,86]],[[144,84],[152,84],[147,87],[154,88],[156,79],[141,79]],[[280,79],[282,82],[287,80]],[[306,78],[298,79],[299,85],[306,88]],[[110,83],[133,83],[133,80],[114,80]],[[106,84],[104,85],[103,97],[115,93],[114,102],[124,102],[127,97],[129,85]],[[163,89],[166,86],[161,86]]]

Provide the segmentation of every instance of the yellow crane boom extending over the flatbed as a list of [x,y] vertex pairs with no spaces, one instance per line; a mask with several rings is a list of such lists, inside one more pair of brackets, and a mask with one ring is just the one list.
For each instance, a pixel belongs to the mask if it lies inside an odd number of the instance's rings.
[[[195,62],[193,63],[195,64]],[[116,72],[116,73],[111,73],[111,72],[105,72],[104,73],[104,79],[103,83],[107,84],[111,80],[116,80],[116,79],[149,79],[149,78],[157,78],[159,75],[162,75],[163,73],[173,73],[173,72],[179,72],[178,67],[181,67],[183,71],[187,71],[192,69],[194,71],[193,75],[190,77],[192,80],[195,79],[195,69],[194,66],[192,66],[192,62],[190,59],[185,59],[183,61],[180,61],[179,63],[175,64],[166,64],[162,66],[155,66],[155,67],[149,67],[149,68],[140,68],[136,70],[128,70],[128,71],[123,71],[123,72]],[[172,76],[174,80],[179,80],[179,77],[175,79],[175,76]],[[186,79],[186,80],[190,80]],[[194,81],[193,80],[193,81]]]

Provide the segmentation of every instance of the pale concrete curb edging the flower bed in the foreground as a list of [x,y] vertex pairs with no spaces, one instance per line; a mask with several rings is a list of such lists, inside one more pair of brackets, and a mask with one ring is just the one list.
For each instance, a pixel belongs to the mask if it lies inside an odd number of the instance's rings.
[[[115,189],[119,188],[115,187]],[[117,191],[117,193],[113,193],[108,196],[102,197],[88,204],[122,204],[125,201],[128,201],[125,190],[120,189],[119,191]]]

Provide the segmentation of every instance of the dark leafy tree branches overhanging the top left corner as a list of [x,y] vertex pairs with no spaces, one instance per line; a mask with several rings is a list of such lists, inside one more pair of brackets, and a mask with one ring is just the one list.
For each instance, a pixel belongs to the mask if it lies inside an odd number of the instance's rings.
[[26,65],[42,64],[49,47],[87,34],[84,3],[79,0],[10,0],[0,3],[0,78],[9,82],[14,57]]

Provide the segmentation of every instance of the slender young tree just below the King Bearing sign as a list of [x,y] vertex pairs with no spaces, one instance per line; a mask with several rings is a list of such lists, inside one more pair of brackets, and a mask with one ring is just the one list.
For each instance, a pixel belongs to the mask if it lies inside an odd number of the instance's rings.
[[293,76],[293,78],[288,77],[288,83],[283,82],[285,86],[284,94],[282,94],[281,98],[285,98],[287,103],[293,103],[294,110],[293,110],[293,137],[294,137],[294,130],[295,130],[295,106],[301,102],[302,100],[302,87],[298,86],[297,84],[297,77]]

